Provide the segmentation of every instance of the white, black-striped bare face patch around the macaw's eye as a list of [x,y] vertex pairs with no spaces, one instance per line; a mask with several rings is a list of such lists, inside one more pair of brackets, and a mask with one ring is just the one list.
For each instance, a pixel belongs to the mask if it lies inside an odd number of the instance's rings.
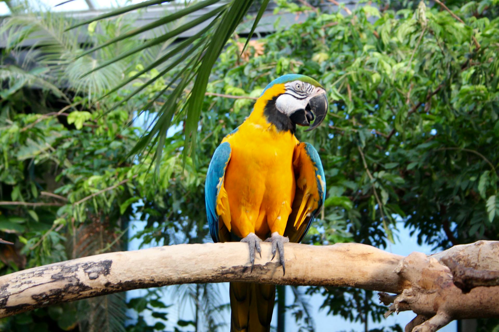
[[284,86],[286,92],[277,97],[275,107],[287,116],[295,111],[304,110],[311,98],[325,92],[320,87],[302,81],[289,82]]

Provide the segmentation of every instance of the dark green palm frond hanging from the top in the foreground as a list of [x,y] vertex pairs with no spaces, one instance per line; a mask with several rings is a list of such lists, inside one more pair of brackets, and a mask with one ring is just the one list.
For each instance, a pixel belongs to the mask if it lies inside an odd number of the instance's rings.
[[[112,17],[115,15],[120,15],[126,12],[130,12],[132,10],[137,10],[140,8],[145,8],[154,4],[162,3],[166,1],[144,1],[138,4],[134,4],[128,7],[119,8],[109,13],[97,16],[95,18],[83,21],[78,23],[76,26],[80,26],[83,24],[90,23],[94,20],[99,20],[103,18]],[[162,35],[154,37],[144,44],[137,46],[134,49],[131,49],[123,54],[114,57],[112,60],[103,63],[102,65],[96,67],[92,71],[100,70],[106,66],[112,65],[121,59],[133,56],[137,54],[137,52],[142,52],[147,48],[158,45],[159,43],[164,43],[167,41],[171,41],[172,39],[177,38],[182,33],[187,30],[196,28],[200,30],[200,32],[194,34],[194,36],[188,38],[186,41],[180,43],[178,46],[174,47],[173,50],[169,51],[165,56],[160,57],[157,61],[154,61],[151,65],[147,66],[147,69],[144,69],[140,73],[137,73],[132,78],[125,79],[122,83],[118,84],[114,89],[115,92],[117,89],[125,86],[131,81],[137,79],[140,75],[144,74],[148,70],[153,68],[160,68],[166,65],[164,70],[158,70],[160,72],[155,78],[149,80],[144,84],[142,89],[152,84],[155,80],[169,75],[173,70],[176,71],[175,78],[171,79],[170,84],[167,88],[161,91],[156,97],[153,98],[153,101],[157,100],[159,96],[163,93],[170,93],[165,101],[165,107],[163,107],[156,117],[156,125],[154,125],[148,134],[143,136],[132,150],[132,153],[139,153],[144,150],[146,146],[148,146],[151,141],[158,143],[156,150],[156,158],[159,159],[161,157],[161,149],[162,142],[164,142],[166,137],[166,132],[168,127],[171,124],[171,119],[175,113],[179,113],[182,111],[186,111],[186,121],[185,121],[185,156],[194,151],[196,145],[196,131],[198,128],[198,122],[201,114],[201,108],[203,105],[204,95],[206,92],[208,79],[210,77],[210,72],[217,61],[220,53],[222,52],[224,46],[227,41],[234,33],[238,25],[244,18],[244,15],[247,13],[251,4],[254,0],[231,0],[230,2],[222,1],[222,0],[203,0],[195,3],[190,3],[185,9],[179,10],[175,13],[162,17],[155,22],[152,22],[144,27],[134,29],[129,31],[128,34],[122,34],[115,38],[111,38],[110,40],[97,45],[96,47],[86,51],[84,54],[90,54],[100,49],[105,49],[110,45],[113,45],[116,42],[126,40],[131,36],[135,36],[139,33],[143,33],[152,28],[156,28],[166,22],[174,22],[176,20],[187,18],[188,15],[198,12],[199,10],[205,10],[206,8],[210,8],[207,13],[204,13],[194,19],[187,19],[187,23],[179,26],[178,28],[166,32]],[[260,9],[256,15],[255,21],[250,31],[250,39],[251,34],[254,32],[254,29],[260,20],[267,4],[268,0],[264,0],[260,6]],[[215,7],[215,8],[212,8]],[[202,38],[202,41],[195,42],[198,38]],[[194,43],[194,45],[193,45]],[[197,48],[191,48],[192,46]],[[181,55],[181,52],[188,52],[189,54]],[[170,64],[170,66],[168,65]],[[185,63],[181,69],[177,69],[178,65],[181,63]],[[173,65],[174,64],[174,65]],[[88,74],[90,74],[90,71]],[[171,74],[170,74],[171,76]],[[190,93],[184,93],[188,85],[194,80],[194,85]],[[175,84],[174,84],[175,83]],[[175,87],[173,87],[175,86]],[[135,95],[141,88],[134,91],[131,96]],[[131,98],[131,97],[130,97]],[[126,98],[125,98],[126,99]],[[129,98],[128,98],[129,99]],[[126,99],[126,100],[128,100]],[[152,105],[149,103],[148,106]],[[146,106],[143,108],[144,110],[149,110]]]

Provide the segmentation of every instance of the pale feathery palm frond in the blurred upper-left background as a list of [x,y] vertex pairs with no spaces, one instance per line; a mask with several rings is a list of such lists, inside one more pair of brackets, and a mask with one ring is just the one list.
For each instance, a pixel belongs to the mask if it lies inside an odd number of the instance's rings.
[[[139,62],[142,53],[136,54],[136,58],[122,58],[114,61],[106,68],[101,64],[123,54],[123,49],[136,48],[142,42],[136,38],[115,42],[113,47],[99,50],[90,55],[79,56],[76,60],[74,55],[84,52],[80,47],[78,30],[71,33],[64,32],[72,24],[72,20],[59,13],[30,12],[13,14],[5,19],[0,27],[0,34],[8,36],[6,50],[10,51],[14,58],[18,50],[24,50],[23,46],[31,44],[24,55],[22,68],[44,69],[43,74],[50,82],[59,87],[69,87],[76,94],[84,94],[89,102],[97,96],[109,91],[116,84],[116,78],[122,77],[135,63]],[[117,19],[113,22],[101,22],[102,30],[107,36],[115,37],[133,29],[130,20]],[[103,40],[104,37],[97,33],[88,33],[87,41]],[[76,37],[76,38],[75,38]],[[21,58],[21,57],[17,57]],[[96,68],[102,68],[96,70]],[[91,74],[82,78],[85,73]],[[53,89],[52,89],[53,90]],[[5,92],[4,92],[5,93]]]

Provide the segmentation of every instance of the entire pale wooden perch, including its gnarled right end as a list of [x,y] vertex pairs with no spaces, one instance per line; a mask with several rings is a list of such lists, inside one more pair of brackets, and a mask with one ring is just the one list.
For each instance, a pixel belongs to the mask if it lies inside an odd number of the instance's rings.
[[439,263],[450,257],[476,270],[499,270],[499,241],[455,246],[430,257],[421,253],[403,257],[358,243],[287,243],[284,276],[276,259],[271,260],[270,243],[262,242],[261,250],[262,258],[256,257],[252,272],[248,245],[236,242],[105,253],[11,273],[0,277],[0,318],[130,289],[226,281],[396,293],[381,294],[381,299],[393,303],[389,313],[412,310],[418,315],[406,327],[413,332],[436,331],[458,318],[499,317],[499,306],[490,305],[499,302],[498,286],[463,293],[452,282],[449,268]]

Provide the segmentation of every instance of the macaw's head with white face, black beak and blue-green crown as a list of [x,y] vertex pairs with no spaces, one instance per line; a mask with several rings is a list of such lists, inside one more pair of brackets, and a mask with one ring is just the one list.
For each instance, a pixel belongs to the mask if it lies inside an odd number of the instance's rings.
[[[310,126],[310,122],[315,119],[313,125],[305,130],[309,131],[319,126],[326,117],[328,109],[326,91],[308,76],[297,74],[281,76],[265,87],[260,98],[265,98],[266,94],[271,94],[272,98],[268,99],[264,113],[279,129],[290,129],[294,132],[296,124]],[[286,126],[286,123],[289,125]]]

